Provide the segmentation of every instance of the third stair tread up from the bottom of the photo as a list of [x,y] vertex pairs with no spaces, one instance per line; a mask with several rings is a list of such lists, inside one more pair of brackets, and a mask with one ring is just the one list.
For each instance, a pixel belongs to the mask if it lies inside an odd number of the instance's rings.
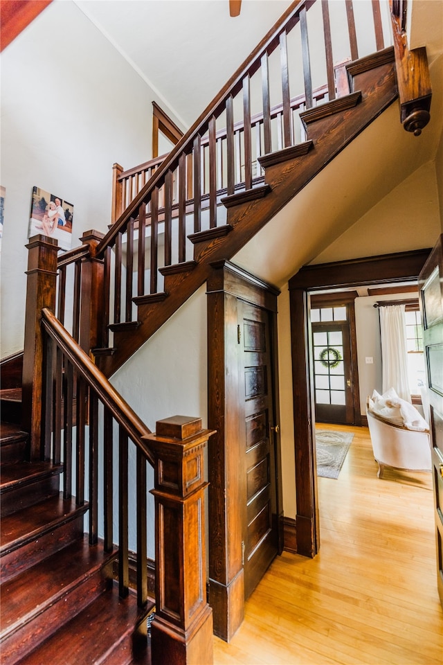
[[[35,504],[33,510],[24,508],[17,513],[3,517],[0,524],[0,553],[16,549],[30,542],[38,535],[51,530],[69,515],[85,511],[87,504],[78,508],[75,499],[63,499],[62,493]],[[24,535],[25,534],[25,535]]]

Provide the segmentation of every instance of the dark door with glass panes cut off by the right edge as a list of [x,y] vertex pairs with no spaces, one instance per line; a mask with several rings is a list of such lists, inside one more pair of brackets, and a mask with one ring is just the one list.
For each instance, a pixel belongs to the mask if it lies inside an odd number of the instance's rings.
[[431,416],[437,585],[443,607],[443,236],[419,275],[419,292]]

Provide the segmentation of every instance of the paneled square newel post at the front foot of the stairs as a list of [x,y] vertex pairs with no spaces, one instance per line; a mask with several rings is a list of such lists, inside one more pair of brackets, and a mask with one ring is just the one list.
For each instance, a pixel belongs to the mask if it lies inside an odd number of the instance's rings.
[[156,614],[152,665],[213,663],[213,610],[206,602],[204,447],[214,432],[174,416],[145,437],[155,457]]

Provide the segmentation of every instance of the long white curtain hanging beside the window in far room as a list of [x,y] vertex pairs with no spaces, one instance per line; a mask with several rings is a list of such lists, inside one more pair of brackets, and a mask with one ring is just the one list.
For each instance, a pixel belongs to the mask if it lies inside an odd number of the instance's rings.
[[405,306],[386,305],[379,312],[383,393],[394,388],[401,399],[410,402]]

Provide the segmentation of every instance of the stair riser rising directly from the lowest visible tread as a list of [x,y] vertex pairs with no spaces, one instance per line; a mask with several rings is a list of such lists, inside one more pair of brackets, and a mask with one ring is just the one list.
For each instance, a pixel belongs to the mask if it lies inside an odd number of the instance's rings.
[[39,608],[39,613],[35,617],[30,617],[15,632],[1,639],[2,665],[19,663],[56,630],[87,608],[109,587],[109,584],[109,580],[102,576],[101,571],[96,571],[80,581],[77,587],[71,586],[66,589],[55,603],[48,601],[48,606]]

